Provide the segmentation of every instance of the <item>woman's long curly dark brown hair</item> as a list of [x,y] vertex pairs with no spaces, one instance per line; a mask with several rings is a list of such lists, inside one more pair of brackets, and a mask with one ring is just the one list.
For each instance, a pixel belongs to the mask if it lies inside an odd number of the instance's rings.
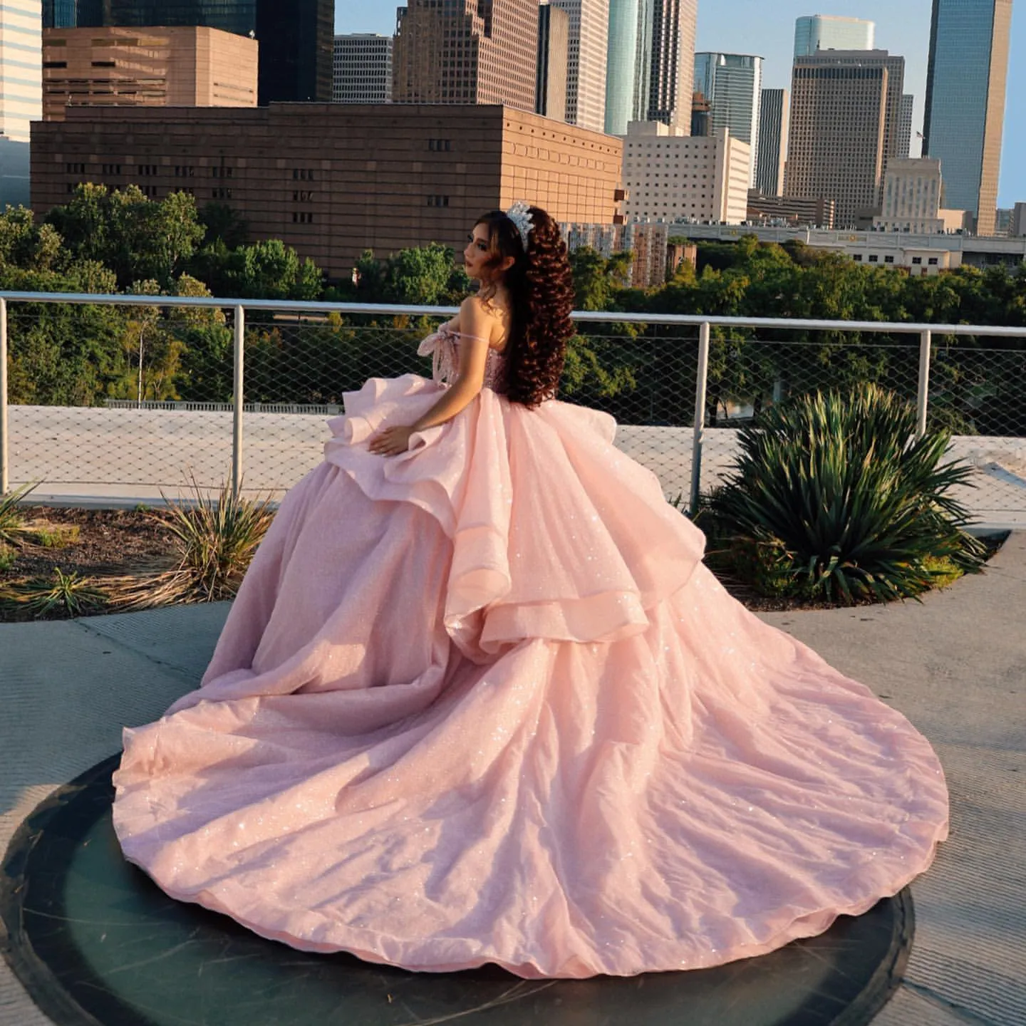
[[575,333],[574,276],[556,223],[539,206],[529,213],[534,227],[526,250],[516,225],[502,210],[478,218],[475,227],[488,230],[486,267],[498,268],[504,259],[513,258],[513,266],[502,275],[511,308],[507,395],[511,402],[537,406],[559,389],[566,343]]

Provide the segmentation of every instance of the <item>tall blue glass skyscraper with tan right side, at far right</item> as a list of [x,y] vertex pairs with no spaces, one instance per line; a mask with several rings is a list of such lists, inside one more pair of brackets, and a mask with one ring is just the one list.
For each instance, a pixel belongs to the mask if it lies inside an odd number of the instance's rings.
[[934,0],[922,154],[979,235],[994,233],[1011,25],[1012,0]]

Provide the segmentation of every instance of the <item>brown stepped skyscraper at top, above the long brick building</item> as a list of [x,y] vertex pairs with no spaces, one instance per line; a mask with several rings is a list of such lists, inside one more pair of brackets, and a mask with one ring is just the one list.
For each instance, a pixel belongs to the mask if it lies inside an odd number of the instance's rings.
[[409,0],[395,37],[392,98],[534,111],[537,64],[538,0]]

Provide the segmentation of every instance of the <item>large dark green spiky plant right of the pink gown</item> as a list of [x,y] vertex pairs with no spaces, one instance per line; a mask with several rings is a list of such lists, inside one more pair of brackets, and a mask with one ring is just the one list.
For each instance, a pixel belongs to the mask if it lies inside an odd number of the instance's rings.
[[978,570],[986,550],[950,495],[972,470],[941,464],[949,432],[915,429],[914,407],[875,385],[771,407],[741,429],[735,471],[709,499],[720,556],[762,594],[845,603]]

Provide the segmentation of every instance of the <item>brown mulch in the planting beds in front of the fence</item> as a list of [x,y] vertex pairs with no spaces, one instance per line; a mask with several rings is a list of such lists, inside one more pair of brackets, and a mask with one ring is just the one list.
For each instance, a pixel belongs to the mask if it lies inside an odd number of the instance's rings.
[[[4,586],[26,578],[50,578],[57,567],[81,577],[116,577],[133,571],[169,565],[174,560],[174,538],[164,525],[165,515],[159,509],[82,510],[47,506],[23,507],[25,521],[34,529],[62,530],[78,528],[78,538],[58,548],[47,548],[31,538],[21,544],[13,565],[0,568],[0,593]],[[988,542],[991,554],[1000,548],[1004,537]],[[787,611],[792,609],[830,608],[828,603],[766,598],[756,594],[740,581],[717,573],[727,591],[749,609],[756,611]],[[872,602],[857,604],[871,605]],[[97,610],[97,611],[103,611]],[[53,609],[43,620],[64,620],[68,614]],[[23,619],[3,608],[0,623]]]

